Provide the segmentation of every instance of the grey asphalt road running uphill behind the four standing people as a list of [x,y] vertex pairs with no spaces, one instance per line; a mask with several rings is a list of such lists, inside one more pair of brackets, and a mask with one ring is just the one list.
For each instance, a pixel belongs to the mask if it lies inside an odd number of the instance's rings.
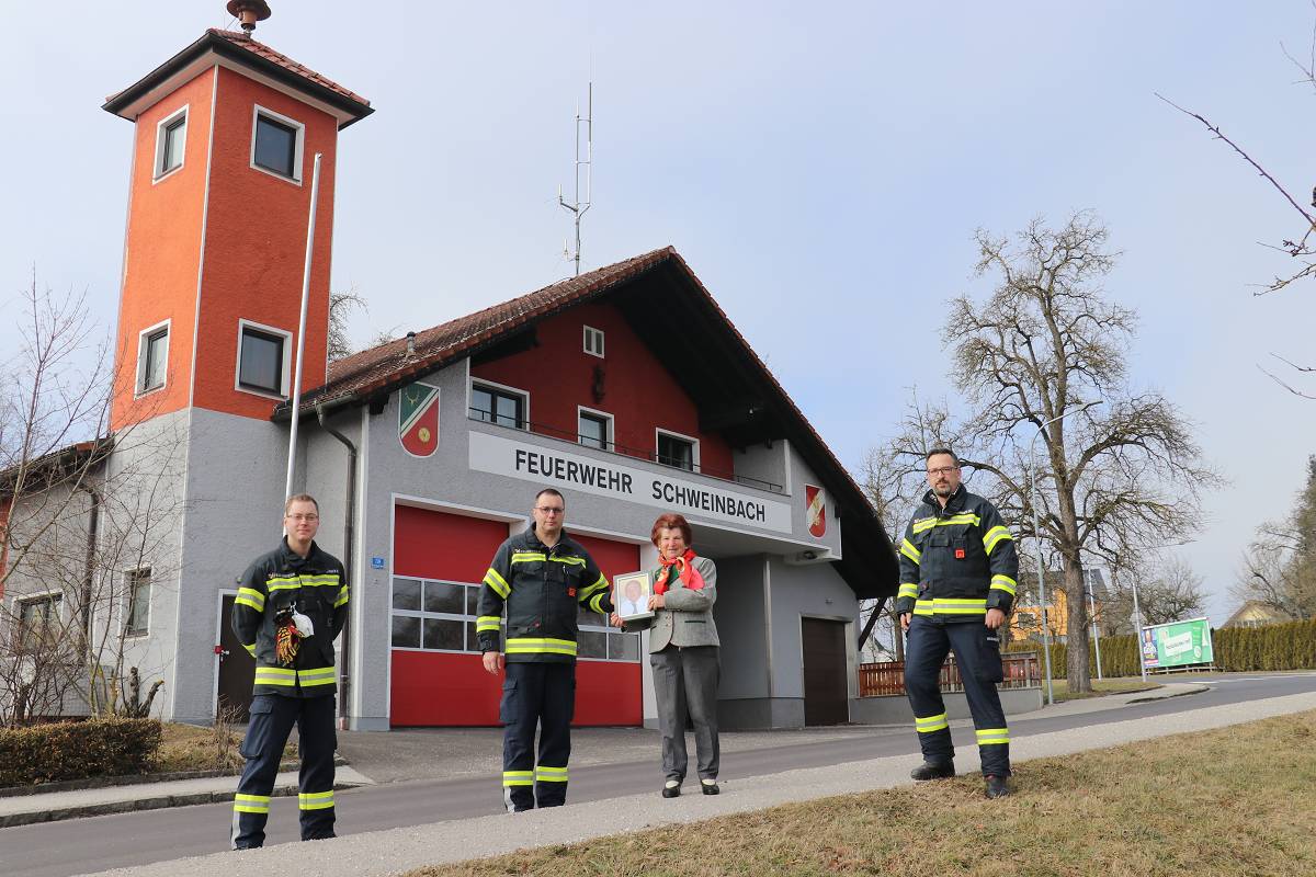
[[[1174,681],[1179,681],[1178,678]],[[1138,703],[1121,709],[1074,715],[1032,714],[1011,721],[1015,739],[1049,731],[1120,722],[1150,715],[1174,715],[1190,710],[1282,697],[1316,690],[1311,675],[1227,675],[1194,678],[1209,690],[1188,697]],[[917,742],[908,728],[871,728],[841,738],[791,746],[724,751],[721,778],[779,773],[859,761],[892,755],[917,756]],[[957,746],[973,743],[973,728],[954,728]],[[730,735],[724,735],[730,736]],[[694,756],[694,752],[691,752]],[[657,794],[654,757],[617,764],[571,768],[570,799],[607,799],[634,794],[649,786]],[[687,784],[694,792],[692,784]],[[337,795],[340,835],[418,826],[501,813],[500,789],[486,774],[457,780],[390,782],[340,792]],[[267,844],[296,840],[295,798],[271,803]],[[0,830],[0,874],[25,877],[64,877],[87,872],[139,865],[154,861],[218,852],[228,847],[232,805],[203,805],[151,810],[137,814],[93,817]]]

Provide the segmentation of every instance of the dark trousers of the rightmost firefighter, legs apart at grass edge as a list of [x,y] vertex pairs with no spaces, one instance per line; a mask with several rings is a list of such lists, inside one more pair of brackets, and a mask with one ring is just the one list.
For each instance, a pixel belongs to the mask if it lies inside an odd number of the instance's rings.
[[[938,685],[941,664],[950,651],[965,684],[969,711],[978,728],[978,755],[984,774],[1009,776],[1009,730],[996,684],[986,681],[999,672],[999,652],[992,667],[987,627],[978,621],[945,622],[924,617],[909,621],[905,640],[905,694],[919,728],[919,747],[925,761],[946,764],[955,757],[946,724],[946,705]],[[940,719],[940,721],[937,721]]]

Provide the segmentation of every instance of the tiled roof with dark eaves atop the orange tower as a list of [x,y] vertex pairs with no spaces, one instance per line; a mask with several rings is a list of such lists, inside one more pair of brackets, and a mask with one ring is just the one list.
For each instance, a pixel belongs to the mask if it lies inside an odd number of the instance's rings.
[[120,118],[137,121],[138,116],[166,95],[216,66],[228,67],[333,116],[340,130],[375,112],[370,104],[340,95],[213,33],[205,33],[142,79],[109,97],[101,109]]

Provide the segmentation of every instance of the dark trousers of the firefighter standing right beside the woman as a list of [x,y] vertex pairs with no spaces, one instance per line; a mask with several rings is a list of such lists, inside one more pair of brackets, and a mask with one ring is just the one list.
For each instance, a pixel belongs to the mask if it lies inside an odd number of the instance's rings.
[[574,713],[575,664],[508,661],[499,706],[504,724],[503,802],[508,810],[566,803]]

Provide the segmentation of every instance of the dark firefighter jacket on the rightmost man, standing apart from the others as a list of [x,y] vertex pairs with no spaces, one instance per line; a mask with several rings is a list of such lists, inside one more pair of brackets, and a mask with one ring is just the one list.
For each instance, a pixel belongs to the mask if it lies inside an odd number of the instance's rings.
[[1007,615],[1019,586],[1019,555],[996,506],[959,485],[942,509],[923,497],[900,543],[896,611],[941,621],[982,622]]

